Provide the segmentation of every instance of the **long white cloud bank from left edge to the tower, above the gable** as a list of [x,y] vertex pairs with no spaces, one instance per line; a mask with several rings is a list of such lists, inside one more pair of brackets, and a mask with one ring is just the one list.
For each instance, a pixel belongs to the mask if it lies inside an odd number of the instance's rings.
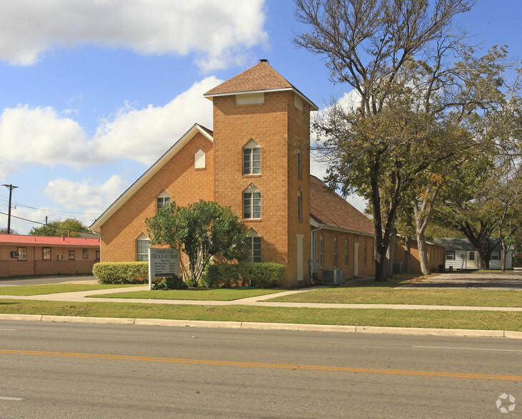
[[214,76],[195,83],[164,106],[127,106],[101,120],[94,139],[69,112],[54,108],[6,108],[0,115],[0,180],[26,165],[100,165],[119,158],[150,165],[194,123],[212,127],[212,104],[203,93],[221,83]]

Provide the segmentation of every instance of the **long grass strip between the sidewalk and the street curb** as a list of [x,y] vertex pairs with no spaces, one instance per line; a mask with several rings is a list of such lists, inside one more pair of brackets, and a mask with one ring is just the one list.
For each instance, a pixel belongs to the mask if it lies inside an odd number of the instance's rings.
[[308,309],[0,299],[0,313],[522,331],[521,314],[511,311]]

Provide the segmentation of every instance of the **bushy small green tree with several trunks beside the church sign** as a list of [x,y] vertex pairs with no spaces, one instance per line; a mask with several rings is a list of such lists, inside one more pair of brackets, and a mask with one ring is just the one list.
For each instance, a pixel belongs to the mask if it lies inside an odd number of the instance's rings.
[[174,202],[165,205],[154,217],[146,219],[151,245],[181,249],[188,256],[189,269],[181,264],[184,277],[199,283],[211,257],[244,259],[246,227],[230,207],[200,200],[186,207]]

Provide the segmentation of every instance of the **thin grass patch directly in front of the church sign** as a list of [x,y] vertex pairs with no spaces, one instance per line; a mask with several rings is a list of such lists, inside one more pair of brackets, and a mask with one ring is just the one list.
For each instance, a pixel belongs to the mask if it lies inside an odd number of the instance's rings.
[[129,291],[114,294],[91,295],[109,299],[161,299],[161,300],[201,300],[232,301],[252,296],[276,294],[283,289],[175,289],[157,291]]

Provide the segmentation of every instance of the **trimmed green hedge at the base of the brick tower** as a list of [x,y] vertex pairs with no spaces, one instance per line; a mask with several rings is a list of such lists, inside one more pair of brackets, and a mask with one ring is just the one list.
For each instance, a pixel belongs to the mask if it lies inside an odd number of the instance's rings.
[[209,288],[231,288],[238,285],[273,288],[281,284],[286,266],[273,262],[242,262],[210,265],[202,281]]

